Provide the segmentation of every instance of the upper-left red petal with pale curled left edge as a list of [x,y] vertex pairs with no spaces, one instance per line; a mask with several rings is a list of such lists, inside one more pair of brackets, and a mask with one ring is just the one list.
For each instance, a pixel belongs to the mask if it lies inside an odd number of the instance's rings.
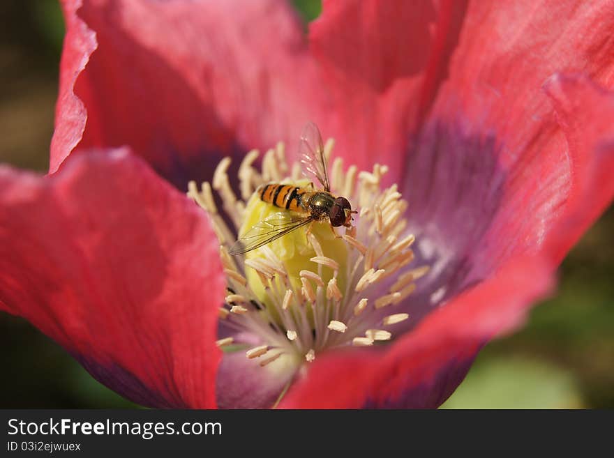
[[[83,3],[66,3],[62,64],[70,74],[63,92],[74,91],[88,112],[81,148],[128,144],[185,188],[189,178],[210,178],[222,155],[273,146],[290,131],[297,141],[308,119],[299,98],[314,78],[301,26],[284,3]],[[63,102],[58,112],[74,113]],[[64,139],[80,137],[82,116],[73,130],[65,116],[58,120],[51,171],[73,147]]]

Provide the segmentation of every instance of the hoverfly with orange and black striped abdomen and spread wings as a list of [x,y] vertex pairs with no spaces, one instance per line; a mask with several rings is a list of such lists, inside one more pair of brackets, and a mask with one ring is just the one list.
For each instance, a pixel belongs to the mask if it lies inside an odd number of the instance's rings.
[[[260,199],[272,206],[283,208],[285,212],[274,213],[255,224],[232,245],[230,254],[244,254],[255,250],[315,221],[329,220],[331,228],[351,227],[352,213],[358,212],[352,211],[352,206],[345,197],[331,194],[322,136],[314,123],[307,123],[303,128],[299,156],[304,174],[312,179],[310,188],[280,183],[260,185],[255,191]],[[315,190],[313,178],[324,189]]]

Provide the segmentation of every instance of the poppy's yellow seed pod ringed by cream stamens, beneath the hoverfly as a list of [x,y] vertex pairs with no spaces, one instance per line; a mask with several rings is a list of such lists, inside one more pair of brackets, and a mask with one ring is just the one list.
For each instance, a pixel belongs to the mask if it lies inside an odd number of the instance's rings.
[[[324,148],[327,157],[331,149],[329,141]],[[209,213],[220,241],[228,284],[220,319],[237,334],[260,338],[261,344],[246,349],[246,358],[257,358],[261,366],[284,355],[311,362],[327,349],[370,346],[393,338],[394,325],[410,318],[395,306],[410,296],[414,281],[428,267],[407,267],[414,259],[414,236],[405,233],[407,202],[396,185],[380,188],[387,167],[375,165],[372,172],[357,173],[352,165],[344,172],[343,161],[334,160],[331,193],[359,210],[352,227],[333,228],[324,218],[232,256],[229,250],[237,234],[241,238],[254,227],[266,227],[272,218],[293,219],[291,211],[255,192],[260,185],[310,189],[299,165],[288,174],[283,145],[264,155],[261,172],[253,167],[257,155],[250,151],[239,167],[241,199],[227,176],[230,158],[220,162],[211,185],[202,183],[200,191],[194,182],[188,185],[188,196]],[[232,229],[225,220],[232,222]],[[234,337],[217,343],[237,344]]]

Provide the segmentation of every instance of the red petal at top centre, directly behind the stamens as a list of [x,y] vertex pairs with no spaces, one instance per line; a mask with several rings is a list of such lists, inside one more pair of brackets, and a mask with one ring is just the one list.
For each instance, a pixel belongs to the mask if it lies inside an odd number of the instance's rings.
[[330,107],[322,132],[359,169],[398,181],[409,132],[430,107],[456,46],[465,1],[324,1],[310,47]]

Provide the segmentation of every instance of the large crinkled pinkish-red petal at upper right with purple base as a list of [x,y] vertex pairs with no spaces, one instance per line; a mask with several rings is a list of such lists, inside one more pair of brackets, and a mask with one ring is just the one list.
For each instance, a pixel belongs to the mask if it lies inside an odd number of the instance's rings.
[[[449,77],[414,142],[417,147],[410,148],[402,189],[410,208],[420,214],[450,206],[457,195],[466,194],[464,183],[479,179],[474,172],[484,167],[479,163],[480,154],[473,153],[459,168],[454,185],[441,187],[440,181],[431,179],[451,174],[451,165],[458,164],[456,158],[462,155],[455,150],[463,148],[462,144],[451,144],[448,151],[439,148],[439,155],[432,159],[433,172],[418,175],[414,162],[424,165],[430,160],[425,145],[434,144],[430,150],[437,149],[437,143],[429,139],[434,125],[465,132],[465,137],[490,145],[481,154],[485,163],[495,163],[497,176],[495,181],[484,177],[481,194],[477,193],[484,199],[464,202],[443,220],[417,223],[423,228],[431,224],[435,231],[443,229],[443,238],[452,240],[468,234],[456,231],[461,213],[470,215],[468,222],[475,218],[480,227],[488,229],[482,231],[479,250],[472,254],[482,273],[492,271],[512,254],[539,249],[569,210],[578,158],[570,154],[573,146],[567,144],[565,129],[541,86],[554,72],[575,71],[611,88],[612,26],[614,9],[606,1],[473,2],[467,9]],[[590,122],[588,117],[578,119],[578,123]],[[594,154],[589,148],[585,151],[588,156]],[[423,211],[422,200],[412,199],[418,188],[416,178],[426,183],[418,193],[429,195],[429,204],[436,210]],[[483,211],[491,206],[493,195],[497,211]]]

